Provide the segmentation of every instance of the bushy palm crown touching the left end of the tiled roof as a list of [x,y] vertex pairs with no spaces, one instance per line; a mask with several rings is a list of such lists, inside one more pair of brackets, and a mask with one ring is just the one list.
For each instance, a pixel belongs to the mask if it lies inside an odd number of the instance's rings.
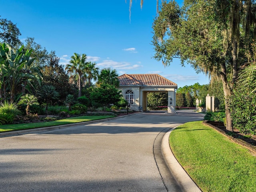
[[117,77],[118,73],[115,69],[112,70],[110,67],[104,68],[100,71],[97,84],[110,84],[118,87],[119,80]]

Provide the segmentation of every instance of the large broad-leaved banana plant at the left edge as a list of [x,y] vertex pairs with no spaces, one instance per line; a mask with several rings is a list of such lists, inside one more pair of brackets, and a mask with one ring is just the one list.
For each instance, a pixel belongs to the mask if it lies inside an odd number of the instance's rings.
[[32,49],[24,50],[24,46],[16,51],[8,44],[0,46],[1,58],[4,59],[1,65],[1,83],[5,84],[4,97],[8,94],[10,102],[18,100],[25,90],[30,91],[32,80],[37,80],[39,84],[42,81],[42,73],[32,65],[35,58],[30,58],[31,53]]

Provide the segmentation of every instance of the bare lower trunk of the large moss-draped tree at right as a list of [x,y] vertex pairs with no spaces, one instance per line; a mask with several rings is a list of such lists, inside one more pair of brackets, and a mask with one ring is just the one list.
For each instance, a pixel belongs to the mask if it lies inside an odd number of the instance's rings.
[[228,85],[225,62],[223,62],[221,64],[220,77],[221,77],[221,80],[222,80],[224,97],[225,97],[226,129],[233,132],[234,130],[233,130],[231,113],[230,113],[229,102],[228,102],[228,99],[232,94],[232,90],[231,90],[230,86]]

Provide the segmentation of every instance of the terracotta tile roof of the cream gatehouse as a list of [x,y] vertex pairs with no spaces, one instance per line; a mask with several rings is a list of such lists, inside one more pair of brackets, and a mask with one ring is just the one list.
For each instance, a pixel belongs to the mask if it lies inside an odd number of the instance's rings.
[[158,74],[123,74],[118,77],[120,86],[177,86]]

